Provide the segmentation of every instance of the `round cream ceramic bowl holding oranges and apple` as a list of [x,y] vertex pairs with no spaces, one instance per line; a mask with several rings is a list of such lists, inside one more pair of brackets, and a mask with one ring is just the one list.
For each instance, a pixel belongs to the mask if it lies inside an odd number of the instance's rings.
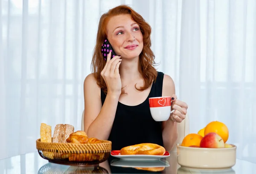
[[196,148],[177,144],[177,163],[185,168],[220,170],[236,164],[236,146],[230,148]]

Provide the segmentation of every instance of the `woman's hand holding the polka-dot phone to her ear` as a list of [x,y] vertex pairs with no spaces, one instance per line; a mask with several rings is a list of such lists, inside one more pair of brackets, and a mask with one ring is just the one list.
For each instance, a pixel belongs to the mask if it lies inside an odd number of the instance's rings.
[[101,72],[105,83],[107,84],[108,94],[118,96],[121,94],[122,84],[119,74],[119,65],[121,64],[121,56],[114,56],[111,59],[111,52],[108,54],[107,62]]

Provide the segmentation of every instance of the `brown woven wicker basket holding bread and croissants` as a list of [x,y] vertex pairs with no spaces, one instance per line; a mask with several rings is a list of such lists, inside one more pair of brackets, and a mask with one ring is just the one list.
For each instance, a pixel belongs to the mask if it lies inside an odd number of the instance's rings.
[[112,142],[100,140],[102,143],[45,143],[36,140],[39,155],[52,163],[67,165],[93,165],[107,160]]

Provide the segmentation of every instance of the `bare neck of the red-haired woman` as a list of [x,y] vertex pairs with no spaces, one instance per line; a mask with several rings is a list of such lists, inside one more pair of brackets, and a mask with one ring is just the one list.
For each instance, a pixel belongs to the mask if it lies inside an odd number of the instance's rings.
[[134,59],[122,59],[119,67],[119,74],[122,81],[134,81],[140,79],[141,75],[138,70],[139,57]]

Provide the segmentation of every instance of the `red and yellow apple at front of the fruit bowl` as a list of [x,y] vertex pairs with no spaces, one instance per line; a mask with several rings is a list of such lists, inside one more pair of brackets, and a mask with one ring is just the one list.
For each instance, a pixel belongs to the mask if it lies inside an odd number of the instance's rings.
[[221,136],[215,132],[210,132],[207,135],[204,135],[204,138],[200,142],[200,147],[204,148],[224,148],[225,143],[222,140]]

